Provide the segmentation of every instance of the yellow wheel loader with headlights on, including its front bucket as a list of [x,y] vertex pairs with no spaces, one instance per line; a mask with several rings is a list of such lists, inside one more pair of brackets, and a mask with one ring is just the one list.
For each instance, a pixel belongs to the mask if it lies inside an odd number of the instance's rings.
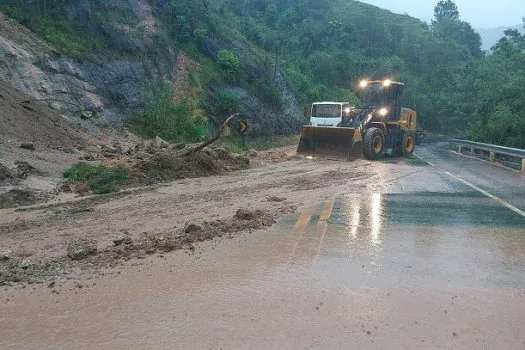
[[337,126],[305,126],[297,153],[364,155],[376,160],[382,155],[409,156],[416,146],[417,114],[399,102],[405,85],[391,80],[359,83],[363,108],[343,114]]

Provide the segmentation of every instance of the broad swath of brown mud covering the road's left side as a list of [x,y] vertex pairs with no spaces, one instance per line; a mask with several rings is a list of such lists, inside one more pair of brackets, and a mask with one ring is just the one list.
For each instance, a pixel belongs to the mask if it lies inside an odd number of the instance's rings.
[[[198,242],[272,226],[312,198],[342,193],[348,183],[366,185],[365,161],[314,162],[293,153],[252,153],[251,169],[219,176],[3,210],[0,284],[54,285],[57,278],[81,280],[147,255],[191,253]],[[89,252],[82,255],[83,249]]]

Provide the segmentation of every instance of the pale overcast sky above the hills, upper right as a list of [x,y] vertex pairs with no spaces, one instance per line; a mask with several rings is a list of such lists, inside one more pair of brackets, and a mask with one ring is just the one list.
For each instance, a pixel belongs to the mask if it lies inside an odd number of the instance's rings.
[[[430,22],[439,0],[361,0]],[[456,0],[461,19],[475,28],[514,26],[525,16],[525,0]]]

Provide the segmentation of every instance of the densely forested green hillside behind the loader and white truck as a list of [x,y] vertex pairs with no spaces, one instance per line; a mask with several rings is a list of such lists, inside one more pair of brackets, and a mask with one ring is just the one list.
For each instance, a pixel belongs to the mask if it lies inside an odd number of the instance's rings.
[[301,103],[356,103],[359,79],[392,77],[426,129],[525,147],[524,37],[510,30],[486,56],[452,0],[437,3],[430,25],[344,0],[233,0],[228,10]]

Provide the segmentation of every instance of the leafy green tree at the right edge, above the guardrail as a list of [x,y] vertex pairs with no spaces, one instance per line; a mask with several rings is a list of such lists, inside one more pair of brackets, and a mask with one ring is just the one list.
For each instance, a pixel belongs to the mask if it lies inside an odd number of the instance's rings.
[[508,30],[457,84],[459,118],[474,141],[525,149],[525,35]]

